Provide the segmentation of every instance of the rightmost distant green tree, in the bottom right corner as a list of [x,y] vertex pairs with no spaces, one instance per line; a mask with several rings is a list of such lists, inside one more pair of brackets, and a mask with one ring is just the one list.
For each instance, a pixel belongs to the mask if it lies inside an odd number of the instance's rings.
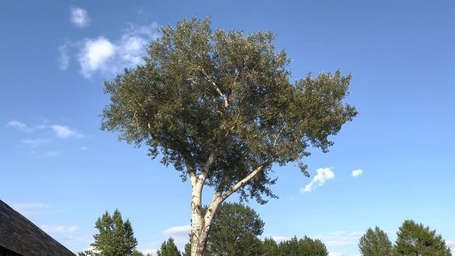
[[436,230],[414,220],[405,220],[397,232],[396,256],[451,256],[449,247]]

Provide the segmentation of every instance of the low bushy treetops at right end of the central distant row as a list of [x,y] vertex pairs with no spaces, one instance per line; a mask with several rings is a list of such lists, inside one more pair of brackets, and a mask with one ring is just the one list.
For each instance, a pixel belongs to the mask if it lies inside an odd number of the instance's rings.
[[327,256],[326,245],[321,240],[313,240],[307,236],[297,240],[291,238],[280,242],[277,250],[277,256]]

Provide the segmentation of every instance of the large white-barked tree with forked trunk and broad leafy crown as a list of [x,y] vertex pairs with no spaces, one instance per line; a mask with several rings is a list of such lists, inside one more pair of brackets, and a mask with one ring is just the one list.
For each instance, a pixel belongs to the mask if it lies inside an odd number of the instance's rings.
[[[309,146],[326,152],[355,108],[343,103],[350,75],[291,82],[290,60],[271,32],[210,28],[210,19],[161,28],[145,63],[105,82],[102,129],[146,144],[191,181],[191,255],[203,255],[215,211],[232,193],[274,197],[272,164],[299,163]],[[202,214],[203,186],[215,193]]]

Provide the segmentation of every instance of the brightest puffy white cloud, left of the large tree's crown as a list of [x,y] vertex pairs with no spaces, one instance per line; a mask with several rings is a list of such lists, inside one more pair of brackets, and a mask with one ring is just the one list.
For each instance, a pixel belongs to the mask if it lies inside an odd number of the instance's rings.
[[109,70],[107,60],[114,55],[114,45],[106,38],[88,39],[79,54],[81,73],[90,78],[92,73]]

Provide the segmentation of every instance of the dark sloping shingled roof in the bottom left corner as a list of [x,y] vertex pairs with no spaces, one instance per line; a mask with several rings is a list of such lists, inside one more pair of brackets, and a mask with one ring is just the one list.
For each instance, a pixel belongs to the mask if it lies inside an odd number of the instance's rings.
[[1,200],[0,247],[23,256],[75,256],[60,242]]

